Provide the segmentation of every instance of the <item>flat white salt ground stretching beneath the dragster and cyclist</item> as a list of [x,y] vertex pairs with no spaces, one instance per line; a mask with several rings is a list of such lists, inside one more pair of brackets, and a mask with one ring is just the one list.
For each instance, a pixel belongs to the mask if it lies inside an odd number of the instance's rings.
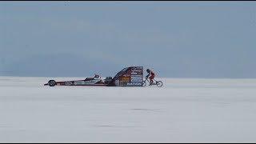
[[43,86],[50,79],[0,77],[0,142],[256,142],[256,79]]

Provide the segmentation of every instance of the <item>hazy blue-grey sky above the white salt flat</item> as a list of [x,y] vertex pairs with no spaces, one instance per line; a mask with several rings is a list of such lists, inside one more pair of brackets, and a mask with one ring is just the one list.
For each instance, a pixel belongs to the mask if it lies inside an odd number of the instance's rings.
[[0,75],[256,78],[256,2],[0,2]]

